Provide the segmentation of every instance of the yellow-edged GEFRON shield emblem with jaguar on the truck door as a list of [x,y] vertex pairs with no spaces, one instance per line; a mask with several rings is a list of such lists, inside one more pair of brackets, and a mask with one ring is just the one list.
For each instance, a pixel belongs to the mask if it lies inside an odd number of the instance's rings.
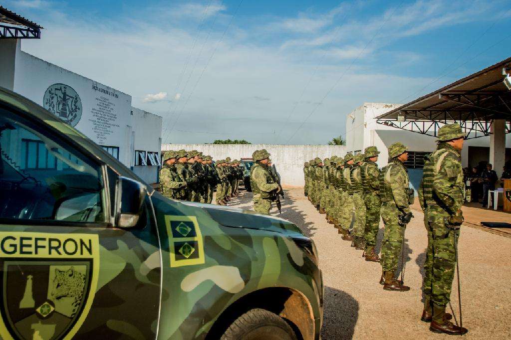
[[72,338],[94,300],[98,235],[0,232],[0,336]]

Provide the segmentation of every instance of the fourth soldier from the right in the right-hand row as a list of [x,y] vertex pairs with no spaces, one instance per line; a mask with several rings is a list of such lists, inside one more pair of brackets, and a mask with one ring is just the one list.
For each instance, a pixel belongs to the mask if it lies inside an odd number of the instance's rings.
[[353,247],[357,250],[364,249],[364,227],[365,227],[365,203],[363,198],[364,188],[362,187],[362,176],[360,174],[360,165],[364,161],[364,154],[358,154],[353,157],[353,167],[351,169],[351,182],[353,191],[354,224],[353,224]]

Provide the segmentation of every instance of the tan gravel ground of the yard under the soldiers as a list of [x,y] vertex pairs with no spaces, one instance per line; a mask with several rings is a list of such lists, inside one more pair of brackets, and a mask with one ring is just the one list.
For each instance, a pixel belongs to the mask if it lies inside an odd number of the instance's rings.
[[[407,254],[405,284],[409,292],[387,292],[378,283],[379,263],[366,262],[362,251],[341,240],[333,225],[319,214],[303,194],[303,189],[286,189],[280,217],[295,223],[316,242],[325,285],[322,339],[344,338],[451,338],[429,331],[420,320],[423,303],[422,264],[426,256],[427,234],[424,215],[415,218],[405,235]],[[229,206],[252,208],[252,193],[240,191]],[[278,215],[273,208],[271,213]],[[378,237],[379,250],[383,224]],[[464,338],[509,339],[511,325],[511,239],[471,227],[464,227],[459,239]],[[452,305],[458,315],[456,278]]]

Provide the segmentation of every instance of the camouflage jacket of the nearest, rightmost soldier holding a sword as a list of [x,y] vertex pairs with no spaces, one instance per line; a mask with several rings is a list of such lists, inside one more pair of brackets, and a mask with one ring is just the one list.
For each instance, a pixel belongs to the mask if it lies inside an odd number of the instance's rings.
[[[430,170],[430,171],[428,171]],[[431,172],[431,197],[425,195],[425,176]],[[425,173],[419,187],[419,202],[423,210],[429,204],[438,204],[450,213],[456,213],[463,203],[463,171],[461,154],[447,143],[440,143],[437,150],[428,155]]]

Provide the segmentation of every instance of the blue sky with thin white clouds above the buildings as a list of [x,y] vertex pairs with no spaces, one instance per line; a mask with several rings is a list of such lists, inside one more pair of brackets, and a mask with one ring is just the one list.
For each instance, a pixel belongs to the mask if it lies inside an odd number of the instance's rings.
[[22,50],[132,95],[164,142],[324,144],[511,56],[502,0],[3,3],[45,28]]

